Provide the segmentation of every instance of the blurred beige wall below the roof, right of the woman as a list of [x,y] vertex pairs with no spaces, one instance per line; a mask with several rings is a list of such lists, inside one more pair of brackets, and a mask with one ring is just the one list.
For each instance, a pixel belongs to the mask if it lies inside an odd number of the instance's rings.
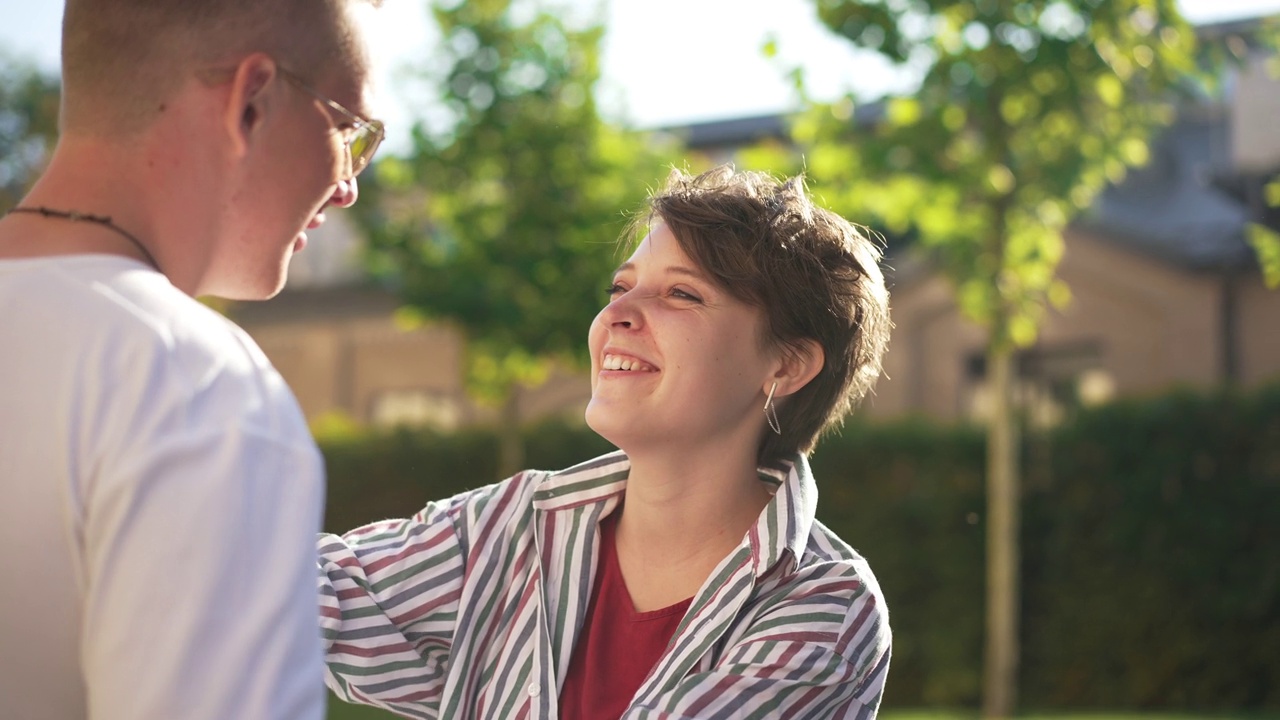
[[[946,281],[904,265],[891,296],[895,328],[886,377],[865,413],[878,419],[969,416],[980,387],[968,360],[982,352],[986,336],[960,315]],[[1073,300],[1048,314],[1039,348],[1084,348],[1083,355],[1096,348],[1098,374],[1116,396],[1221,380],[1222,284],[1216,274],[1181,270],[1075,233],[1068,237],[1059,277]],[[1257,274],[1242,278],[1238,323],[1242,384],[1280,378],[1280,291],[1267,291]]]

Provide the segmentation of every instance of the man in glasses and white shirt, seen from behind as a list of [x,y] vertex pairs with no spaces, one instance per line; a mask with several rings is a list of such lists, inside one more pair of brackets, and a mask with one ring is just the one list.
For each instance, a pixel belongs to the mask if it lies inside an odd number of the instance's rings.
[[321,717],[323,462],[239,328],[383,137],[376,0],[68,0],[0,219],[0,715]]

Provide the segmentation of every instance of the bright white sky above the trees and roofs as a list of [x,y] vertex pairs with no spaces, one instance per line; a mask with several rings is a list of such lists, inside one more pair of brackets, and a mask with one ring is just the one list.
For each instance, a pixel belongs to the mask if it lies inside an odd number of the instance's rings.
[[[893,78],[817,19],[814,0],[570,0],[607,10],[602,109],[639,127],[681,124],[778,111],[795,102],[786,69],[801,65],[819,97],[849,87],[883,91]],[[58,0],[0,0],[0,50],[58,67]],[[1192,22],[1280,13],[1280,0],[1180,0]],[[406,137],[430,94],[404,79],[404,68],[434,46],[426,0],[384,0],[371,13],[381,65],[380,102],[392,147]],[[778,58],[760,49],[777,42]]]

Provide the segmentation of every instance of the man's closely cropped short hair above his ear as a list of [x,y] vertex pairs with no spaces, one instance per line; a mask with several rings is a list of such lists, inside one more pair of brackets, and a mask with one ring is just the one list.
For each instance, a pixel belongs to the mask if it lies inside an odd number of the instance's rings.
[[192,73],[256,51],[307,76],[361,61],[344,14],[353,1],[67,0],[63,131],[146,127]]

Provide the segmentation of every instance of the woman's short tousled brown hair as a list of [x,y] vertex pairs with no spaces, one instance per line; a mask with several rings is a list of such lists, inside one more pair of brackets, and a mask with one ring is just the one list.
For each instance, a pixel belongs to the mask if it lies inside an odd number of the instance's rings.
[[763,311],[763,342],[783,352],[805,340],[822,346],[822,370],[778,404],[782,433],[765,430],[759,460],[812,451],[881,374],[891,324],[879,247],[814,205],[803,177],[780,182],[732,165],[673,172],[637,224],[655,217],[714,282]]

